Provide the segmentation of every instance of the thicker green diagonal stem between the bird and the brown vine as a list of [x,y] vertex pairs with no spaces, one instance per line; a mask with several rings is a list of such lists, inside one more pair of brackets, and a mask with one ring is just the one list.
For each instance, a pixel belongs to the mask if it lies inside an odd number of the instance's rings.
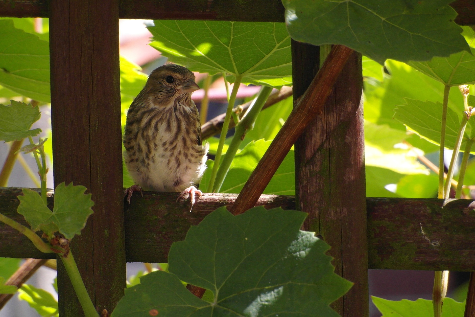
[[219,193],[219,190],[223,185],[224,178],[228,174],[229,167],[231,166],[231,163],[234,157],[236,156],[236,152],[239,149],[239,145],[241,144],[242,140],[244,140],[246,132],[248,130],[252,130],[254,123],[256,122],[257,115],[259,114],[259,112],[261,112],[261,109],[264,106],[264,103],[266,103],[266,100],[271,92],[271,87],[262,86],[259,91],[259,94],[254,99],[254,102],[247,109],[247,112],[244,117],[239,121],[239,123],[237,123],[233,139],[229,144],[228,150],[224,155],[221,165],[219,165],[218,173],[216,175],[215,188],[217,193]]

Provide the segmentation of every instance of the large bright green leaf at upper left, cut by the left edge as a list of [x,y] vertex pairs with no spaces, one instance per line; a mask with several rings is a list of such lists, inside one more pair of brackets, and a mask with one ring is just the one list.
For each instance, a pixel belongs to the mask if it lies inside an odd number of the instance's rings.
[[49,43],[0,20],[0,84],[16,93],[50,102]]

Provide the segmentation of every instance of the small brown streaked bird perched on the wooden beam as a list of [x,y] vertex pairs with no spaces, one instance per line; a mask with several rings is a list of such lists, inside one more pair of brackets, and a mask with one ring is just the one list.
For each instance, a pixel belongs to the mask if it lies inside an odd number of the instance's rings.
[[[190,194],[191,209],[197,184],[206,169],[208,144],[201,142],[201,125],[191,93],[198,90],[186,67],[163,65],[150,74],[127,113],[123,153],[135,185],[125,190]],[[198,199],[199,199],[198,197]],[[178,201],[177,199],[177,201]]]

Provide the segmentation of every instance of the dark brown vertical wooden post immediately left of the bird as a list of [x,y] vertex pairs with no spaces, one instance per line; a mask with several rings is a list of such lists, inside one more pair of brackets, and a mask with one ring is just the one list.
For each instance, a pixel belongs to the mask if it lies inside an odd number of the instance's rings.
[[[117,0],[51,0],[54,180],[84,185],[94,214],[71,250],[99,312],[125,288]],[[84,316],[58,261],[61,317]]]

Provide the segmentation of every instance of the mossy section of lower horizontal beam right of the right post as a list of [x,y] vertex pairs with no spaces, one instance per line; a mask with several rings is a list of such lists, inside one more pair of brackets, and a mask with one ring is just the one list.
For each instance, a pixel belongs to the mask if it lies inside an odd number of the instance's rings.
[[367,200],[370,268],[475,268],[475,211],[471,201],[371,198]]

